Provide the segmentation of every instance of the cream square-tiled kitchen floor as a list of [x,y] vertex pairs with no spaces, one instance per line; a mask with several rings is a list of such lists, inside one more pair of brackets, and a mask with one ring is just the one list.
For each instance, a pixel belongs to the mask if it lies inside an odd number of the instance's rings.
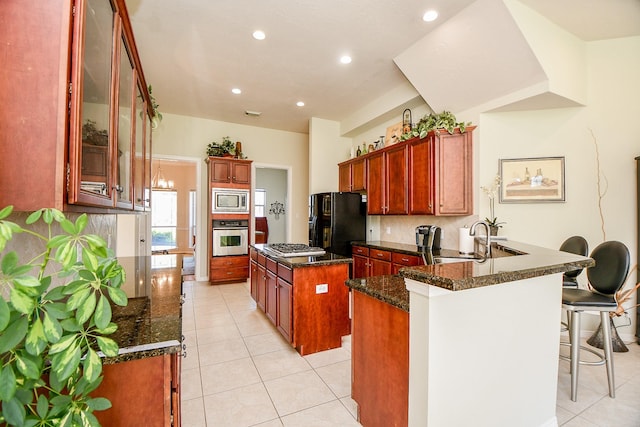
[[[349,337],[339,349],[300,356],[264,314],[247,283],[185,282],[182,425],[359,426],[351,393]],[[578,402],[559,362],[558,424],[640,426],[640,346],[615,353],[616,398],[602,366],[581,366]],[[615,420],[615,421],[614,421]]]

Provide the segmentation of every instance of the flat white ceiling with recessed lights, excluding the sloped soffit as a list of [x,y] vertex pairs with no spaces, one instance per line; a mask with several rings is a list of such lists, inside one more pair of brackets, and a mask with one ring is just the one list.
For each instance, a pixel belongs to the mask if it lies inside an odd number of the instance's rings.
[[[126,0],[161,112],[301,133],[406,84],[394,57],[473,2]],[[520,2],[585,41],[640,35],[640,0]]]

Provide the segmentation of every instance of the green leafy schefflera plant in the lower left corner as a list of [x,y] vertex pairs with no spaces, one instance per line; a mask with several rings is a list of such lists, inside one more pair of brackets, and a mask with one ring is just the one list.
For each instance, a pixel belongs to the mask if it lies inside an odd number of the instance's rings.
[[[98,352],[118,354],[106,335],[117,329],[109,299],[128,302],[124,269],[104,239],[83,234],[86,214],[72,222],[56,209],[40,209],[23,227],[7,220],[12,211],[0,210],[0,424],[99,426],[93,412],[111,402],[90,393],[103,378]],[[48,232],[28,228],[38,221]],[[4,254],[21,233],[42,244],[24,263],[15,251]]]

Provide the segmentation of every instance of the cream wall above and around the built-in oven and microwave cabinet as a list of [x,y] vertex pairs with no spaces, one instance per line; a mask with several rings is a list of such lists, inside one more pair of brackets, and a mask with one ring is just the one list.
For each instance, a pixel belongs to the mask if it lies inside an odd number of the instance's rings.
[[[206,148],[211,141],[220,142],[222,137],[229,136],[232,141],[242,142],[242,151],[249,160],[273,165],[274,167],[291,168],[293,188],[291,197],[291,241],[306,242],[308,240],[308,190],[309,190],[309,148],[306,134],[284,132],[255,126],[206,120],[197,117],[179,116],[163,113],[163,120],[153,132],[153,155],[196,157],[203,159],[203,167],[199,177],[198,206],[198,242],[207,242],[206,236],[206,194],[207,168],[204,159]],[[206,247],[198,245],[196,249],[198,280],[207,280],[208,266]]]

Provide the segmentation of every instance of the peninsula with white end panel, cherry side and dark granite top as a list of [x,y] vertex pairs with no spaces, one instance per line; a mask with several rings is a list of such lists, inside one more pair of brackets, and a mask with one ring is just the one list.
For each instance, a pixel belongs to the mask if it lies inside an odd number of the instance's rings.
[[[494,248],[521,255],[406,267],[400,275],[347,282],[354,291],[352,396],[363,425],[557,425],[562,273],[593,260],[511,241]],[[382,378],[397,372],[402,380],[400,370],[385,369],[381,361],[390,356],[359,320],[376,304],[397,310],[396,319],[408,317],[407,326],[378,332],[407,337],[407,344],[388,351],[398,363],[408,361],[408,403],[402,407],[395,397],[396,415],[391,411],[387,419],[377,391],[359,380],[362,371]],[[398,422],[404,414],[406,423]]]

